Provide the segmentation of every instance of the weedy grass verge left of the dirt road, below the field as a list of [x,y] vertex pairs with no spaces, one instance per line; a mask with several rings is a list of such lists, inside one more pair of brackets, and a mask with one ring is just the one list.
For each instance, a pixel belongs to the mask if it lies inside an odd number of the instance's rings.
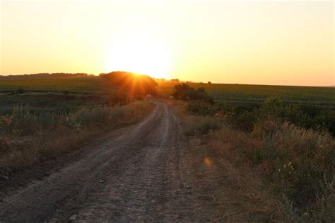
[[98,135],[138,122],[153,109],[146,101],[83,107],[74,113],[33,113],[16,106],[0,116],[0,172],[9,174],[52,159]]

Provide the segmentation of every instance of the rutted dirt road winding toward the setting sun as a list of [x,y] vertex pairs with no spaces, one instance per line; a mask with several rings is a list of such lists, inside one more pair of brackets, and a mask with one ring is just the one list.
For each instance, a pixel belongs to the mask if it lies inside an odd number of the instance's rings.
[[23,185],[3,185],[0,222],[194,219],[179,171],[177,121],[167,103],[155,103],[145,120],[95,140],[73,162]]

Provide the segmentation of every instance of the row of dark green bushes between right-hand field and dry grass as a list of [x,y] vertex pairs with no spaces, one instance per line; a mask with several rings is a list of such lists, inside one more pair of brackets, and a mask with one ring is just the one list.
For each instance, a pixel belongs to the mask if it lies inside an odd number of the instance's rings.
[[[187,87],[184,87],[187,88]],[[187,112],[192,115],[218,115],[237,130],[251,132],[259,120],[274,119],[280,122],[290,122],[306,129],[327,130],[335,135],[335,110],[333,108],[317,107],[315,105],[285,105],[281,98],[271,97],[264,104],[231,105],[224,102],[204,103],[204,101],[189,101]]]

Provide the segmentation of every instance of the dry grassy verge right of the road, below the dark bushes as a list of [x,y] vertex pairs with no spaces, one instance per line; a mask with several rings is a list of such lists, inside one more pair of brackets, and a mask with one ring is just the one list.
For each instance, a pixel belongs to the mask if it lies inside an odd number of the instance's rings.
[[[217,174],[234,182],[234,186],[221,188],[221,193],[254,216],[252,219],[334,222],[335,141],[328,132],[271,118],[259,120],[251,131],[242,131],[223,114],[190,115],[185,103],[177,103],[175,108],[184,133],[190,135],[190,147],[198,153],[202,150],[204,162],[215,164]],[[191,143],[196,140],[197,144]],[[257,195],[258,201],[245,198],[248,194]],[[222,211],[234,210],[232,201],[222,202],[228,205]],[[257,212],[257,203],[267,204],[264,212]],[[235,217],[243,221],[242,214],[240,219]]]

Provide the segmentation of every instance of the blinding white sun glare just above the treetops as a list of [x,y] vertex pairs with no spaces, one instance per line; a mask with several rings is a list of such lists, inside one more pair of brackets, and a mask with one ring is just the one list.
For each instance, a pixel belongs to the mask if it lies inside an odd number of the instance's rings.
[[110,71],[127,71],[167,78],[170,64],[164,37],[153,28],[123,29],[112,37],[108,52]]

